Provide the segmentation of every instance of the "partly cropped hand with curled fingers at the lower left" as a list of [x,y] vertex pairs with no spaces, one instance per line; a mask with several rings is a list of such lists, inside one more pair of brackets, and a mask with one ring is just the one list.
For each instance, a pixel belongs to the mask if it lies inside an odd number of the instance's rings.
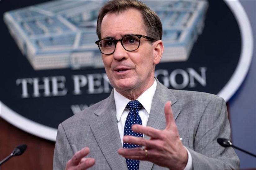
[[66,169],[87,169],[94,165],[95,159],[84,158],[90,152],[88,147],[79,150],[74,156],[67,162]]

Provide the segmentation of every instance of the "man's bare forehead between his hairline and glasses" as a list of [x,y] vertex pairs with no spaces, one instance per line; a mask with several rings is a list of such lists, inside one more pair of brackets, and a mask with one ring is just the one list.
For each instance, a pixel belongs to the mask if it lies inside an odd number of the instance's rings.
[[107,13],[101,23],[101,38],[121,38],[128,34],[146,35],[142,15],[130,8],[119,13]]

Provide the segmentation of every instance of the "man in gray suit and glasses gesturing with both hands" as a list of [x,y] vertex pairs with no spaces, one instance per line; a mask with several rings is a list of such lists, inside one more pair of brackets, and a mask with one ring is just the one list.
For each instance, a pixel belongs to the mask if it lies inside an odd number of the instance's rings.
[[[224,100],[167,89],[154,78],[164,50],[155,12],[136,0],[109,1],[100,10],[97,35],[114,89],[59,125],[54,169],[239,168],[234,150],[216,141],[230,139]],[[142,108],[128,110],[130,101]],[[130,119],[136,122],[132,130]],[[73,144],[79,150],[75,154]]]

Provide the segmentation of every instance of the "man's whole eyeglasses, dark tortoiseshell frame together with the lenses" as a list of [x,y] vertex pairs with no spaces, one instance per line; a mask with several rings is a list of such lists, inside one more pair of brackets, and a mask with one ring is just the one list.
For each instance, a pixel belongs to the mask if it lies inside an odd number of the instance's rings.
[[146,38],[150,41],[156,41],[154,38],[147,37],[145,35],[126,35],[122,39],[114,40],[112,38],[103,38],[95,42],[98,45],[102,54],[113,54],[115,52],[115,47],[118,41],[121,42],[122,46],[127,51],[135,51],[140,46],[140,40]]

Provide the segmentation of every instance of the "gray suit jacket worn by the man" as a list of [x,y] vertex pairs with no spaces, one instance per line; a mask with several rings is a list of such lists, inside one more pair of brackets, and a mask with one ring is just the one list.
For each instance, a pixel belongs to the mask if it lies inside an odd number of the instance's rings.
[[[165,129],[164,105],[170,100],[175,122],[184,146],[192,156],[194,169],[238,169],[235,151],[223,148],[218,137],[230,139],[230,125],[224,100],[213,94],[167,89],[157,81],[147,126]],[[148,136],[144,136],[148,138]],[[75,114],[58,127],[53,169],[65,169],[73,156],[71,145],[90,148],[95,158],[91,169],[127,169],[125,158],[117,153],[122,147],[115,113],[113,90],[101,102]],[[140,161],[139,169],[166,169]]]

